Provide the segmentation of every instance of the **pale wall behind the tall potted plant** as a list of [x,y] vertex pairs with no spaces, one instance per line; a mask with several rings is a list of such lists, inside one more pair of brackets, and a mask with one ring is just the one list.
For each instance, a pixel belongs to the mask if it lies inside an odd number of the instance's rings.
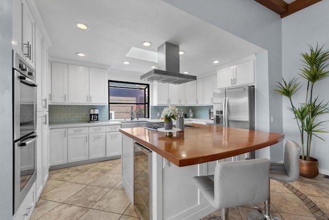
[[[329,49],[329,1],[321,1],[307,7],[297,13],[291,14],[282,19],[282,75],[285,79],[296,77],[300,72],[300,53],[308,52],[308,44],[313,47],[317,42],[324,44],[324,49]],[[300,79],[303,88],[294,97],[295,103],[305,101],[305,80]],[[329,101],[329,79],[324,79],[315,84],[314,95],[320,94],[321,99]],[[286,140],[293,139],[300,143],[299,132],[293,114],[287,109],[290,106],[288,99],[283,99],[283,132]],[[322,120],[329,120],[329,115],[322,117]],[[329,127],[329,123],[325,123]],[[327,129],[329,131],[329,129]],[[329,175],[329,134],[320,135],[326,141],[316,137],[312,139],[310,155],[319,159],[320,173]]]

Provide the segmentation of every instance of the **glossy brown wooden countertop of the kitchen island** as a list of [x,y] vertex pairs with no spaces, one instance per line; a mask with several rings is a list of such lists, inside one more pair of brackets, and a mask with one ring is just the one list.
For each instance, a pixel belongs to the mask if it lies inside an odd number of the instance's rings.
[[[166,137],[165,132],[143,127],[120,129],[136,142],[165,157],[178,167],[232,157],[276,144],[284,135],[232,127],[189,124],[186,128]],[[123,146],[124,147],[124,146]]]

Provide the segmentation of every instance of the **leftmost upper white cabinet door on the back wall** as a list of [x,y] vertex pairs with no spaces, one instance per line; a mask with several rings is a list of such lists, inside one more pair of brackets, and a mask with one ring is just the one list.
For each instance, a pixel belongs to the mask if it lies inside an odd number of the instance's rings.
[[51,62],[51,103],[67,103],[68,65]]

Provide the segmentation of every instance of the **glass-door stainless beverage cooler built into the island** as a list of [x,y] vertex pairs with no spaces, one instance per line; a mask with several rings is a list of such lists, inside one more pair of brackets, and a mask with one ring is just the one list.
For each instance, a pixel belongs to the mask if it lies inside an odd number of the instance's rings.
[[152,151],[134,143],[134,208],[142,220],[152,219]]

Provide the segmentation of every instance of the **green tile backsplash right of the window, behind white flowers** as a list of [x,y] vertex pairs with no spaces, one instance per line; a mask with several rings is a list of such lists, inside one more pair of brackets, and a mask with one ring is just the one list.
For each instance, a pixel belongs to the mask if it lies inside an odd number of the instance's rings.
[[[158,119],[157,113],[160,114],[163,111],[163,108],[167,106],[151,106],[151,119]],[[208,118],[209,117],[209,108],[213,108],[212,105],[205,105],[205,106],[176,106],[177,108],[181,109],[184,113],[189,113],[190,109],[194,112],[194,118]]]

